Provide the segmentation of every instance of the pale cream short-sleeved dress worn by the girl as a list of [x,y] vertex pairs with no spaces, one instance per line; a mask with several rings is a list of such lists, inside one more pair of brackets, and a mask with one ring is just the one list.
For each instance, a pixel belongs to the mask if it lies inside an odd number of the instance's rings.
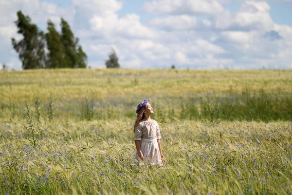
[[[140,141],[140,149],[146,164],[162,164],[157,139],[161,139],[159,125],[155,120],[141,121],[135,128],[135,140]],[[136,150],[135,159],[140,159]]]

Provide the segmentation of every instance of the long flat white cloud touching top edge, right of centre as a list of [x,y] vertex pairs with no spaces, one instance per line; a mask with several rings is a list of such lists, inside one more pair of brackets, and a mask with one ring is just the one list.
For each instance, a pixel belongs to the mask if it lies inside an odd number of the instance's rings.
[[207,14],[214,15],[224,10],[217,0],[153,0],[145,2],[143,10],[154,14]]

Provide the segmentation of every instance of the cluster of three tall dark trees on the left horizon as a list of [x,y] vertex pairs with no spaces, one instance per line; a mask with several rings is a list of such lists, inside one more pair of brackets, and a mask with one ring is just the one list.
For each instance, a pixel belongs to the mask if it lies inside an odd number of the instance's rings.
[[61,18],[61,33],[59,33],[54,23],[48,20],[48,32],[44,33],[21,11],[17,12],[17,16],[18,20],[15,24],[18,27],[18,34],[21,34],[23,39],[11,40],[23,69],[86,68],[87,55],[78,44],[79,39],[74,38],[67,21]]

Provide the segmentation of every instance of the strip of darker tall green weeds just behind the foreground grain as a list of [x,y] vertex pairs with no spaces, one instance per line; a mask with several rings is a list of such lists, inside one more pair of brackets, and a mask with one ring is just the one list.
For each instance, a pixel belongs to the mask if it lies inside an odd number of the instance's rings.
[[[142,99],[142,98],[140,98]],[[37,120],[40,117],[47,117],[49,121],[57,117],[64,119],[70,117],[75,121],[114,118],[135,117],[136,104],[139,98],[82,98],[76,101],[68,101],[66,104],[56,102],[49,98],[47,102],[35,102],[35,112]],[[228,93],[224,96],[215,96],[208,94],[205,97],[194,95],[189,98],[157,98],[150,97],[153,103],[156,119],[160,122],[169,122],[171,120],[201,120],[209,121],[212,124],[219,123],[221,120],[245,120],[245,121],[273,121],[273,120],[291,120],[292,118],[292,93],[286,95],[268,94],[263,90],[256,93]],[[55,106],[57,104],[58,106]],[[45,107],[46,115],[40,112],[40,107]],[[17,107],[15,104],[2,104],[2,113],[0,118],[9,120],[21,118],[23,107]],[[57,114],[56,114],[57,113]]]

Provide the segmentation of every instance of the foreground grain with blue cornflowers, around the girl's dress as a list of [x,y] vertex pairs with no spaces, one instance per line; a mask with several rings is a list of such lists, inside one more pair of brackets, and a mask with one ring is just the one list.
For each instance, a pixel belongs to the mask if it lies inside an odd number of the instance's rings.
[[[66,124],[67,123],[67,124]],[[289,194],[292,123],[161,124],[164,166],[134,160],[130,121],[2,124],[0,194]],[[25,182],[25,183],[24,183]],[[252,193],[251,193],[252,192]]]

